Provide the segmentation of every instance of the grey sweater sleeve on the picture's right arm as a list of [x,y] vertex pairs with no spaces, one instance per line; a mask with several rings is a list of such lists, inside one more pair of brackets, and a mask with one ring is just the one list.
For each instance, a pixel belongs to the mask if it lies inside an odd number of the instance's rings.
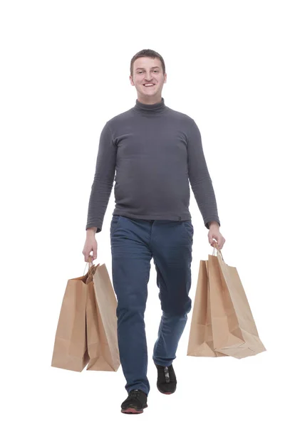
[[193,119],[191,120],[187,144],[188,176],[199,211],[204,220],[204,226],[209,229],[210,221],[217,221],[219,225],[221,224],[212,179],[209,176],[204,157],[201,133],[196,122]]

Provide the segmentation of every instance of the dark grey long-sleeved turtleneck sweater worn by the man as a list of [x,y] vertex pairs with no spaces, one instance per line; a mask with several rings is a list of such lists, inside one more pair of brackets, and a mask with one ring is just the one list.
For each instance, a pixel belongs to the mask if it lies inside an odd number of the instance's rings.
[[100,134],[86,230],[102,230],[115,179],[113,215],[185,221],[190,186],[204,225],[219,223],[199,129],[188,115],[160,102],[138,101],[108,120]]

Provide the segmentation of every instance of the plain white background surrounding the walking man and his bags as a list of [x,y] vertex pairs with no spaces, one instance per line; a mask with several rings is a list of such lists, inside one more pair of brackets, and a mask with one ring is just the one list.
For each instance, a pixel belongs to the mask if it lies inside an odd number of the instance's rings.
[[[3,426],[133,422],[280,426],[284,422],[284,13],[282,1],[1,1],[1,418]],[[282,41],[283,40],[283,41]],[[187,357],[192,312],[173,366],[177,391],[156,389],[160,321],[151,264],[145,323],[145,412],[120,413],[123,371],[51,367],[68,278],[83,246],[100,132],[135,105],[130,60],[165,60],[165,105],[202,135],[224,260],[242,279],[267,352],[237,360]],[[111,275],[113,191],[96,236]],[[212,254],[194,194],[194,299]],[[282,246],[283,245],[283,246]],[[2,394],[3,396],[3,394]]]

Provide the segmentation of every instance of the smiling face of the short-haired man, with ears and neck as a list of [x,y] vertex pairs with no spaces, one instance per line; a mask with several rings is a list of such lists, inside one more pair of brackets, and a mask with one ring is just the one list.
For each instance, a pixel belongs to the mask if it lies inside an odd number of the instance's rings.
[[[133,78],[130,75],[130,84],[135,86],[138,101],[144,104],[155,104],[161,101],[161,93],[167,75],[163,75],[162,64],[159,58],[142,57],[133,63]],[[145,86],[152,83],[152,86]]]

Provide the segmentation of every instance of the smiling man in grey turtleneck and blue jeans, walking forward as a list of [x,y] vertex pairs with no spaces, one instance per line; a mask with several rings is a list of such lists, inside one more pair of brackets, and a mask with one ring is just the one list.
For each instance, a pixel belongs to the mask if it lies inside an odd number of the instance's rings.
[[176,389],[172,361],[192,303],[188,293],[194,228],[188,179],[209,229],[209,243],[222,249],[225,241],[199,129],[191,117],[165,105],[161,93],[166,79],[157,52],[140,51],[131,60],[130,83],[138,99],[101,132],[88,206],[86,262],[91,251],[93,260],[97,258],[95,233],[102,229],[115,176],[110,241],[118,346],[128,391],[123,413],[142,413],[150,391],[144,313],[152,257],[162,307],[152,356],[157,389],[163,394]]

